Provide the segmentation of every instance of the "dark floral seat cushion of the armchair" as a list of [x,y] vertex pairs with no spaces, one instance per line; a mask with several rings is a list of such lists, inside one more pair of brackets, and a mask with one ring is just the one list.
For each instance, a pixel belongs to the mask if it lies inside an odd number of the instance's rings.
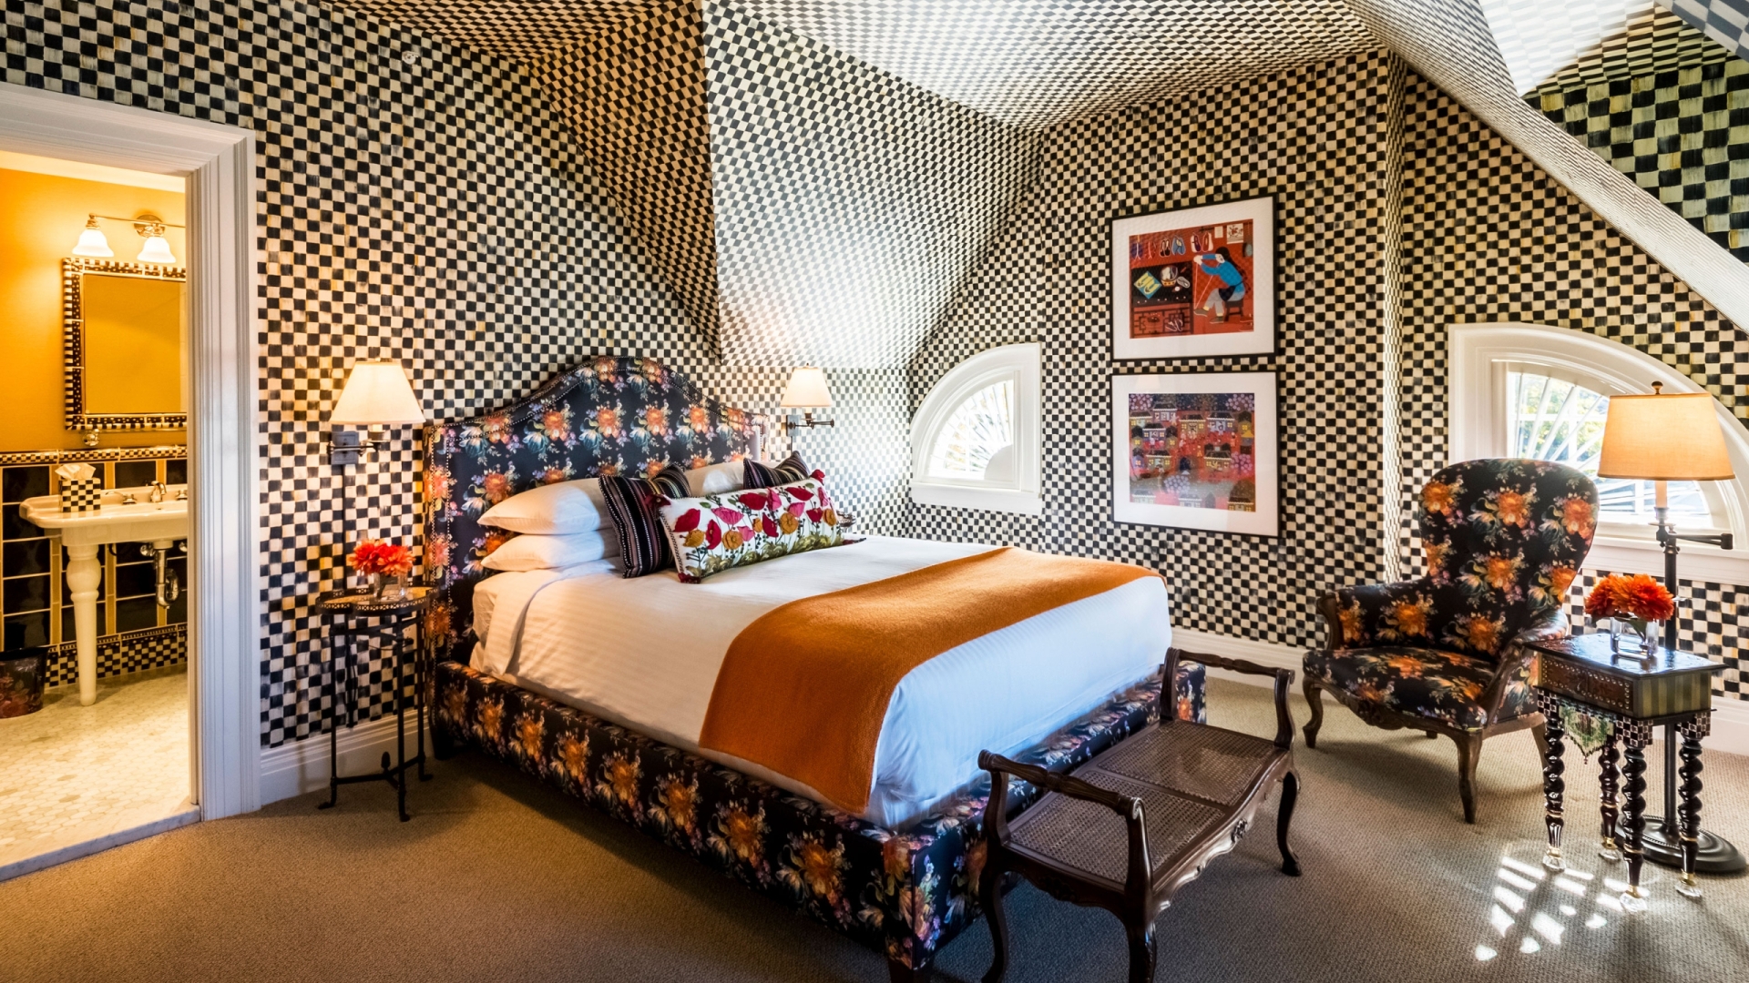
[[[1410,645],[1313,651],[1307,654],[1307,677],[1327,689],[1347,693],[1397,714],[1425,717],[1462,731],[1480,731],[1488,712],[1481,696],[1497,670],[1492,659]],[[1530,684],[1518,672],[1506,684],[1501,712],[1492,722],[1511,721],[1530,710]]]

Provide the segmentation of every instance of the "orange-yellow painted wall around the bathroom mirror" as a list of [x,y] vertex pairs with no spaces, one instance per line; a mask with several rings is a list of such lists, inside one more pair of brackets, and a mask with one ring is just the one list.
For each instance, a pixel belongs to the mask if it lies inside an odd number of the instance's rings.
[[[80,448],[84,434],[66,430],[61,402],[61,259],[72,255],[86,215],[138,215],[184,224],[184,196],[175,191],[128,187],[0,168],[0,451]],[[145,243],[126,222],[103,222],[117,261],[133,261]],[[184,229],[164,238],[178,264],[187,262]],[[177,373],[180,353],[142,353],[140,367]],[[184,430],[103,430],[101,444],[180,444]]]

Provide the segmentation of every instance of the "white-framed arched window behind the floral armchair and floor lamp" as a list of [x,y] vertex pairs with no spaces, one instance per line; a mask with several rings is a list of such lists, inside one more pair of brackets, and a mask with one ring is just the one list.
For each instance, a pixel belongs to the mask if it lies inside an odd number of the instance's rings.
[[[1530,324],[1452,325],[1450,460],[1527,457],[1590,474],[1600,514],[1586,563],[1662,574],[1653,483],[1597,478],[1609,399],[1648,394],[1653,381],[1663,383],[1665,392],[1705,392],[1651,355],[1590,332]],[[1716,408],[1733,471],[1749,476],[1749,434],[1730,409]],[[1670,483],[1670,521],[1681,532],[1742,537],[1746,516],[1749,497],[1740,479]],[[1683,544],[1683,572],[1695,577],[1711,572],[1714,579],[1749,575],[1749,558]]]

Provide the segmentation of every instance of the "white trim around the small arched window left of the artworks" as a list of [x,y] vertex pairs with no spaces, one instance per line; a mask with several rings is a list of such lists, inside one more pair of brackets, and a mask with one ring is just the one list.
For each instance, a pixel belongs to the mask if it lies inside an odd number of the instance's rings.
[[[911,418],[911,500],[920,505],[948,505],[955,509],[990,509],[1037,516],[1044,512],[1041,493],[1041,362],[1044,346],[1039,343],[1004,345],[979,352],[953,367],[916,409]],[[1014,481],[997,486],[979,481],[951,481],[929,478],[929,451],[936,432],[979,388],[1014,376]]]

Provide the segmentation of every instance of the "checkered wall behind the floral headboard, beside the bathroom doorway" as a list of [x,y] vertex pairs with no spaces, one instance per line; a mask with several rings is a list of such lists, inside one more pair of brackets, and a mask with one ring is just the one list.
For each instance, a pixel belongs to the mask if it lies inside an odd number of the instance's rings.
[[[257,133],[268,745],[332,719],[308,598],[338,586],[343,544],[416,533],[411,430],[359,471],[322,455],[353,360],[402,360],[437,420],[507,404],[593,353],[652,355],[777,409],[787,371],[715,359],[511,63],[313,3],[52,0],[7,3],[5,80]],[[902,416],[897,380],[834,374],[838,415],[857,423],[799,439],[866,528],[902,500],[864,462],[890,464],[850,441]],[[380,705],[374,693],[366,710]]]

